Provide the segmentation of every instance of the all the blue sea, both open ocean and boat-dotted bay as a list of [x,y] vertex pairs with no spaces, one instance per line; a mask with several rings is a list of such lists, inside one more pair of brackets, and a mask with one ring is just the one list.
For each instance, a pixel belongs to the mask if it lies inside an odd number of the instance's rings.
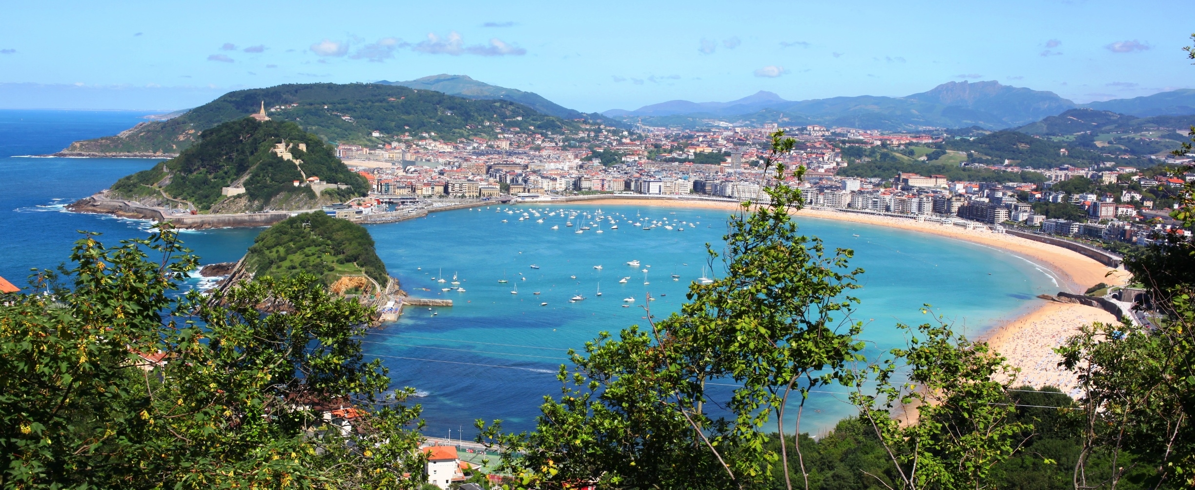
[[[0,111],[0,277],[24,285],[31,268],[68,262],[82,230],[100,232],[110,246],[151,231],[151,222],[72,213],[63,206],[158,160],[35,156],[75,139],[115,135],[145,114]],[[474,420],[532,429],[544,396],[560,393],[557,372],[569,365],[569,349],[583,349],[602,331],[618,335],[646,325],[649,315],[678,311],[693,280],[721,272],[707,247],[722,252],[727,217],[727,211],[633,203],[491,204],[368,225],[379,256],[405,291],[452,299],[453,306],[409,306],[399,321],[362,339],[366,354],[382,360],[393,389],[415,389],[409,403],[422,407],[427,435],[468,440]],[[635,225],[652,222],[673,229]],[[581,225],[590,229],[577,234]],[[872,359],[905,345],[900,323],[942,316],[974,337],[1027,312],[1037,294],[1059,289],[1046,267],[991,247],[827,219],[801,218],[799,225],[831,250],[854,252],[850,263],[864,273],[851,318],[864,322]],[[184,231],[183,240],[203,263],[228,262],[244,255],[261,230]],[[210,281],[195,275],[189,287]],[[654,300],[646,300],[649,294]],[[572,300],[577,296],[584,299]],[[719,390],[733,385],[719,384]],[[811,395],[803,414],[802,432],[817,434],[856,411],[844,387],[826,386]]]

